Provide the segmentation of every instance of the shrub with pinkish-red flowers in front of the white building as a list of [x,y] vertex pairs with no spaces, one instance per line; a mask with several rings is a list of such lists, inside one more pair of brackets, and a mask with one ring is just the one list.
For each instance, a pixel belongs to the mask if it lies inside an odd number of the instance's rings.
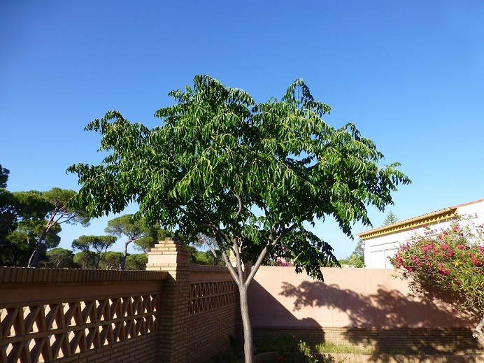
[[472,311],[481,321],[474,336],[484,343],[484,225],[455,216],[450,227],[414,234],[390,258],[414,292],[439,290],[453,296],[453,311]]

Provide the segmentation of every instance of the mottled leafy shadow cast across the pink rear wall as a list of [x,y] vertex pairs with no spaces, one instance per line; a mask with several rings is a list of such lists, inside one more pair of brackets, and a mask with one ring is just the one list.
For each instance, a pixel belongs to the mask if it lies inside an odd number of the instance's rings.
[[382,353],[453,354],[482,350],[470,329],[463,326],[463,322],[471,320],[468,315],[453,314],[445,304],[413,299],[381,285],[376,293],[362,295],[319,281],[304,281],[298,286],[283,283],[280,295],[294,298],[293,311],[319,307],[345,313],[350,321],[346,339]]

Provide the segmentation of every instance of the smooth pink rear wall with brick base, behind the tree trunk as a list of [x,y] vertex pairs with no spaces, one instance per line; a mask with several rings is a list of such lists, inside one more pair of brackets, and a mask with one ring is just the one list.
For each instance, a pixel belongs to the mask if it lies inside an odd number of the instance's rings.
[[[438,350],[448,341],[452,342],[444,350],[480,349],[471,337],[469,316],[453,313],[443,301],[410,296],[406,281],[394,278],[392,270],[323,269],[323,273],[324,283],[297,274],[292,267],[262,266],[249,290],[255,340],[296,332],[309,341],[385,349],[417,350],[415,344],[420,344]],[[390,347],[388,342],[393,342]]]

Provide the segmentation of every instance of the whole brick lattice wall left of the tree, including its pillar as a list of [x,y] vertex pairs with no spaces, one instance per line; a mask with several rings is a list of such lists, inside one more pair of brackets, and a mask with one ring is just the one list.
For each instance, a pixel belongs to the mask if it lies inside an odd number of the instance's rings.
[[236,331],[227,268],[167,239],[150,271],[0,267],[0,363],[203,362]]

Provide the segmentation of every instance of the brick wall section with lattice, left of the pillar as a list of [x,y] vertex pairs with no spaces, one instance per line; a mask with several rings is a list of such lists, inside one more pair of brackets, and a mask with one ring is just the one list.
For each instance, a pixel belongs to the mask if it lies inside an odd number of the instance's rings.
[[157,362],[166,276],[1,267],[0,362]]

